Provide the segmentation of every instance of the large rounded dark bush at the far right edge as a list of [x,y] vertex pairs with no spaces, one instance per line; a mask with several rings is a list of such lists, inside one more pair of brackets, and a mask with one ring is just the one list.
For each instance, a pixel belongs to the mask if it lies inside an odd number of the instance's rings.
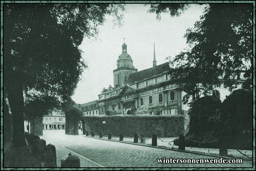
[[238,89],[227,96],[221,105],[221,136],[233,149],[252,149],[252,99],[251,92]]

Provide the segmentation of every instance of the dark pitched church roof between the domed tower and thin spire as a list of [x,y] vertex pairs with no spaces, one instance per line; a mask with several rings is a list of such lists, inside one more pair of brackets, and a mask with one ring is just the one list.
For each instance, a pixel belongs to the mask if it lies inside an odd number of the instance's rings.
[[143,79],[153,77],[154,75],[159,75],[167,71],[168,68],[169,68],[169,63],[163,63],[161,65],[157,65],[155,67],[148,68],[146,70],[135,72],[129,76],[127,84],[133,84],[135,82],[142,81]]

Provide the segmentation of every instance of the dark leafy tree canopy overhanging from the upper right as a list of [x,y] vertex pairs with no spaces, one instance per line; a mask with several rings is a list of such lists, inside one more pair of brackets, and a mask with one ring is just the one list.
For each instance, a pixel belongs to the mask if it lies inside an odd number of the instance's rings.
[[[151,5],[149,12],[179,16],[187,7]],[[169,58],[171,77],[179,79],[187,93],[184,102],[198,90],[208,94],[222,83],[233,89],[242,77],[243,87],[252,91],[252,36],[252,4],[208,4],[184,35],[189,48]]]

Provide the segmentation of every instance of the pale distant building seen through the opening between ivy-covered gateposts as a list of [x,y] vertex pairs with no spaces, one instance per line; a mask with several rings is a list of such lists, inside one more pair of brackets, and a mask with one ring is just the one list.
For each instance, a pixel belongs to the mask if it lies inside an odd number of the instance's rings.
[[65,113],[62,110],[53,108],[53,111],[43,116],[43,130],[65,130],[65,125]]

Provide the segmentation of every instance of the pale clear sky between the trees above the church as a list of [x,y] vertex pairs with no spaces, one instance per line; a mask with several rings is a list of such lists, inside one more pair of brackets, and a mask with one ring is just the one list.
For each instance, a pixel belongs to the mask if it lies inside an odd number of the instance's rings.
[[116,60],[122,53],[124,38],[127,53],[138,71],[152,67],[154,42],[157,65],[184,51],[187,47],[186,29],[193,28],[200,20],[204,7],[191,4],[179,17],[162,13],[159,21],[155,13],[147,12],[149,5],[126,4],[121,27],[114,26],[112,17],[107,16],[104,25],[99,26],[97,37],[85,38],[79,47],[88,67],[82,73],[72,99],[77,104],[84,104],[97,100],[103,87],[114,87],[113,70],[117,68]]

